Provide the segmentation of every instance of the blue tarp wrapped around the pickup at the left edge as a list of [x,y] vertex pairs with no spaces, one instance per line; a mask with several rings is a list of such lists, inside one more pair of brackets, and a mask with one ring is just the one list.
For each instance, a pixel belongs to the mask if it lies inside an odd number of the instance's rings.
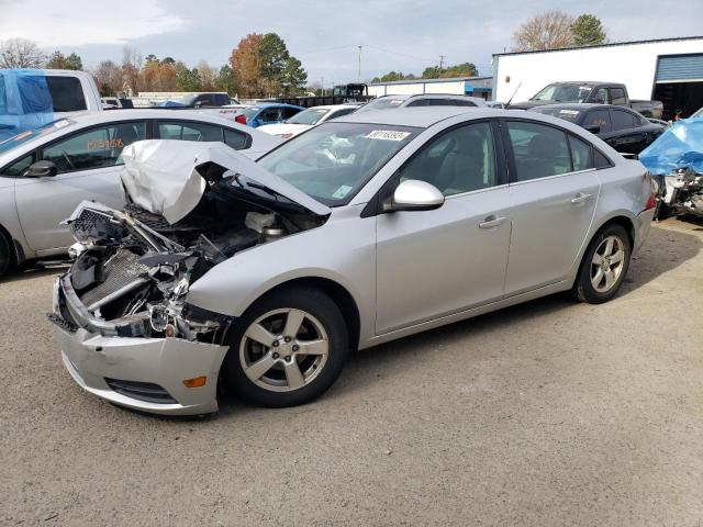
[[54,121],[46,77],[37,69],[0,69],[0,142]]

